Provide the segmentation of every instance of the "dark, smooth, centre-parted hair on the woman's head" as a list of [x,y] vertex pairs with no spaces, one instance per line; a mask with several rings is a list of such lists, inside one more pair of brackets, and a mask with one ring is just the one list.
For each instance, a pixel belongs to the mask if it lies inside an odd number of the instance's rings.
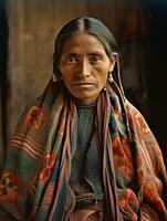
[[117,42],[114,35],[104,23],[91,17],[76,18],[66,23],[61,29],[55,39],[54,54],[53,54],[53,74],[58,78],[60,76],[59,62],[63,44],[66,39],[69,39],[73,34],[81,33],[81,31],[95,35],[104,44],[106,54],[108,56],[111,55],[112,52],[118,51]]

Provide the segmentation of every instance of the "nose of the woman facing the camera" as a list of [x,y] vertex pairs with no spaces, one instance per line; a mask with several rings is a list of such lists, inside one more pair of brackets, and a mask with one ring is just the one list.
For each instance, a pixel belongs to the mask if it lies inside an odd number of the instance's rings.
[[91,75],[91,64],[87,59],[80,60],[76,66],[76,74],[80,77],[88,77]]

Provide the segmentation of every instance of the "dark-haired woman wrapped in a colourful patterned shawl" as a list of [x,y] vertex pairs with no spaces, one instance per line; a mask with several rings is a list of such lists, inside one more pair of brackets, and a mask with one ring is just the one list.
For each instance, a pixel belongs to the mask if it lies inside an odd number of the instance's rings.
[[13,135],[0,220],[166,220],[166,185],[160,149],[124,96],[113,34],[93,18],[70,21],[53,77]]

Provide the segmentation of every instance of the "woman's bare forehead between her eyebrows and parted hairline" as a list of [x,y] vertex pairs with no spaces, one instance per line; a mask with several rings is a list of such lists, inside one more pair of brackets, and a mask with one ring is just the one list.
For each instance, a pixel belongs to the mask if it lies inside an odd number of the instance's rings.
[[97,36],[88,33],[73,34],[63,44],[62,53],[71,50],[100,50],[105,52],[105,46]]

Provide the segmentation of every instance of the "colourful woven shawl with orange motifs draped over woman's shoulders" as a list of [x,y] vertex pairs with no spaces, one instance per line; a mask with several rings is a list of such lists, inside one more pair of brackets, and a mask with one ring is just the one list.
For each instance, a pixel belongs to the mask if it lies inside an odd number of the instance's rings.
[[[105,220],[166,220],[161,152],[115,85],[97,99]],[[0,183],[0,220],[63,220],[77,135],[75,103],[64,91],[51,81],[18,123]]]

